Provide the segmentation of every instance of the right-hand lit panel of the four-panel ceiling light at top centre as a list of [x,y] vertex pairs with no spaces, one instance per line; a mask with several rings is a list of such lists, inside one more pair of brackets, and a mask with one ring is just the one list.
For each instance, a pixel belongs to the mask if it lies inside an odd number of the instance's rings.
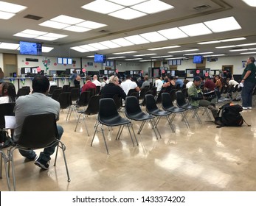
[[143,13],[159,13],[165,10],[170,10],[173,9],[174,7],[171,6],[170,4],[166,4],[163,1],[159,0],[151,0],[151,1],[145,1],[140,4],[136,4],[131,7],[134,10],[139,10]]

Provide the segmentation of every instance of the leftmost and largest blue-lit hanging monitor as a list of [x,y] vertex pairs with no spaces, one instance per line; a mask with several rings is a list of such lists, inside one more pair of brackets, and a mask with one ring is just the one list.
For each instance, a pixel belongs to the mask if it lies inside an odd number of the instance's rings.
[[42,55],[42,44],[20,41],[20,54]]

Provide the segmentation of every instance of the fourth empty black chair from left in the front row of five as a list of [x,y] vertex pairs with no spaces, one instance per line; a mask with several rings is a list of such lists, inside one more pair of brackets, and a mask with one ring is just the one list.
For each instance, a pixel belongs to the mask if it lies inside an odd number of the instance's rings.
[[190,127],[190,124],[188,124],[186,116],[184,116],[184,113],[186,112],[186,110],[180,107],[174,106],[170,93],[162,93],[162,108],[167,112],[173,113],[173,116],[170,118],[170,123],[173,122],[173,119],[175,118],[176,114],[180,113],[182,116],[182,119],[184,119],[184,122],[187,128]]

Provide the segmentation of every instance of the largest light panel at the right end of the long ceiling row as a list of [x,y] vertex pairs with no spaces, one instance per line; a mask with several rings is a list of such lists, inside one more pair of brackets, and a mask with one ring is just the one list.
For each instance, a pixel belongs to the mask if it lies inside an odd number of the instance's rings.
[[220,18],[212,21],[205,21],[204,24],[212,30],[212,32],[226,32],[242,29],[233,16]]

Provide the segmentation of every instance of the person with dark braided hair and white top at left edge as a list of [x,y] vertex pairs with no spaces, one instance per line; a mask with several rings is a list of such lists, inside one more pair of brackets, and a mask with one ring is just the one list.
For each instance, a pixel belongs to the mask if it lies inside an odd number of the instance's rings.
[[16,102],[16,90],[13,83],[3,82],[0,85],[0,104]]

